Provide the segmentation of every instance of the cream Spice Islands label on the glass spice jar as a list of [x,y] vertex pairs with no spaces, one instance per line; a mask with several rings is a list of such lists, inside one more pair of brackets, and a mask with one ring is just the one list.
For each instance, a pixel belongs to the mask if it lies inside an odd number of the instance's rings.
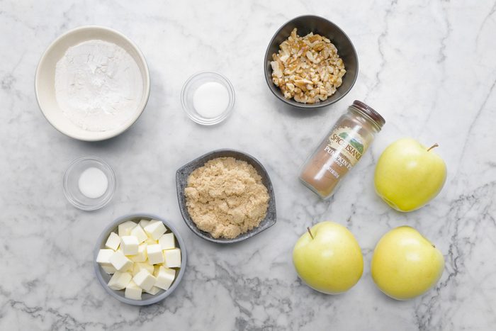
[[329,148],[334,150],[332,154],[336,155],[336,161],[350,169],[363,154],[363,138],[347,126],[339,127],[329,135],[326,150]]

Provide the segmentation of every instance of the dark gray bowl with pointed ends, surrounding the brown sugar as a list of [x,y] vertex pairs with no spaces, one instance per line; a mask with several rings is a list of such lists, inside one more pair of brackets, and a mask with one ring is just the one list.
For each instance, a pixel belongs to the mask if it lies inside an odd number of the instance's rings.
[[[269,208],[267,209],[267,214],[263,220],[261,220],[259,226],[254,228],[234,239],[225,239],[225,238],[214,238],[210,233],[202,231],[198,229],[196,224],[191,219],[191,216],[188,213],[188,208],[186,207],[186,196],[184,196],[184,189],[188,184],[188,176],[193,172],[193,170],[202,167],[205,162],[210,161],[210,159],[216,159],[218,157],[234,157],[235,159],[239,159],[247,162],[248,164],[252,164],[252,166],[257,170],[259,175],[261,176],[262,183],[269,191]],[[276,197],[274,196],[274,187],[272,186],[271,179],[269,177],[269,173],[266,171],[264,166],[259,162],[259,160],[252,157],[252,155],[248,155],[244,152],[239,152],[238,150],[214,150],[213,152],[209,152],[197,159],[193,159],[193,161],[184,164],[183,167],[179,168],[176,172],[176,188],[177,188],[177,200],[179,201],[179,209],[181,210],[181,215],[183,215],[184,222],[188,225],[188,228],[191,229],[198,237],[201,237],[210,242],[217,242],[218,244],[231,244],[233,242],[240,242],[242,240],[247,240],[258,233],[267,230],[272,225],[276,224]]]

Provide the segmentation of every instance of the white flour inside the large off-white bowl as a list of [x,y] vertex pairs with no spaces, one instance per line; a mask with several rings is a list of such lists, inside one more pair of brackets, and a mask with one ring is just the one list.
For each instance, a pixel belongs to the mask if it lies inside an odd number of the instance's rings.
[[120,128],[143,94],[140,68],[123,48],[88,40],[65,52],[55,69],[55,95],[64,116],[89,131]]

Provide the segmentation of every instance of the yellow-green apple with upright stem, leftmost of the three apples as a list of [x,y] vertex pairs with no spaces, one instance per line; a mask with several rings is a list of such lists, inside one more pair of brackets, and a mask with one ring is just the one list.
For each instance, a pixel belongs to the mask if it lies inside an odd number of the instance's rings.
[[363,257],[354,235],[343,225],[321,222],[298,239],[293,264],[300,279],[316,291],[339,294],[349,290],[363,273]]

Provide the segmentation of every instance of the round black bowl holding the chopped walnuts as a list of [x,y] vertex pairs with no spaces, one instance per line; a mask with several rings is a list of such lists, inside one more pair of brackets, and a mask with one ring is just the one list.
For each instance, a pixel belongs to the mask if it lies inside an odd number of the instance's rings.
[[[279,51],[279,45],[281,45],[284,40],[288,39],[293,28],[297,28],[298,35],[301,36],[312,32],[329,38],[331,43],[336,46],[339,57],[343,59],[344,69],[346,69],[346,74],[343,76],[343,83],[337,88],[336,93],[329,96],[325,101],[309,104],[300,103],[294,99],[286,99],[278,86],[274,85],[274,82],[272,82],[272,54]],[[342,97],[351,90],[356,82],[356,77],[359,74],[359,59],[351,40],[349,40],[346,33],[344,33],[339,26],[320,16],[305,15],[293,18],[277,30],[265,52],[264,71],[265,80],[267,85],[269,85],[269,89],[271,89],[272,93],[277,96],[279,100],[296,108],[314,109],[329,106],[330,104],[339,101],[339,99],[342,99]]]

